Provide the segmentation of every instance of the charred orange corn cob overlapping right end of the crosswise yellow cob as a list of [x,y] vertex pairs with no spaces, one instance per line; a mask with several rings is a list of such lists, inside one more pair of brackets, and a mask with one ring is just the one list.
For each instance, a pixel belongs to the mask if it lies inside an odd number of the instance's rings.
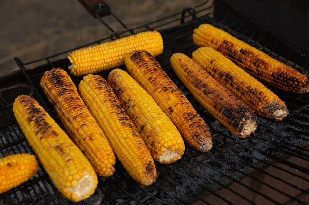
[[175,124],[183,139],[202,152],[212,147],[209,128],[192,104],[147,51],[127,55],[125,65],[131,76],[153,97]]

